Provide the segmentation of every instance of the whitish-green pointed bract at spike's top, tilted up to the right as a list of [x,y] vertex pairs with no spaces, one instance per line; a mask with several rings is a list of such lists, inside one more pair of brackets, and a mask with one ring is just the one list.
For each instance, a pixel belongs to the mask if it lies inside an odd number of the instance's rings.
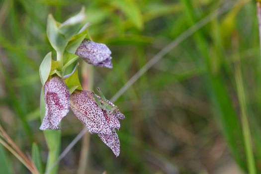
[[83,7],[81,11],[75,16],[69,18],[64,23],[62,23],[58,30],[64,35],[66,39],[70,39],[73,35],[77,34],[81,27],[84,26],[86,20],[85,8]]

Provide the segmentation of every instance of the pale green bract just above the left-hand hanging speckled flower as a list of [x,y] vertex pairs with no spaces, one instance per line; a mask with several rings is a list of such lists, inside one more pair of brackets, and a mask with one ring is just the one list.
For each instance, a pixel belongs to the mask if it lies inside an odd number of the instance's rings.
[[42,85],[45,84],[47,81],[49,74],[51,72],[51,64],[52,64],[52,53],[49,52],[43,59],[40,68],[39,68],[39,74],[40,74],[40,80]]

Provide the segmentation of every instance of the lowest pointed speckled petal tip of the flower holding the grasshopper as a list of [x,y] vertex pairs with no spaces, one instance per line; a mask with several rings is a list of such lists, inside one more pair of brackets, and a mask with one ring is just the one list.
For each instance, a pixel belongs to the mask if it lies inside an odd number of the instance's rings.
[[112,130],[112,134],[98,134],[100,139],[112,150],[112,152],[118,157],[120,155],[120,140],[115,132]]

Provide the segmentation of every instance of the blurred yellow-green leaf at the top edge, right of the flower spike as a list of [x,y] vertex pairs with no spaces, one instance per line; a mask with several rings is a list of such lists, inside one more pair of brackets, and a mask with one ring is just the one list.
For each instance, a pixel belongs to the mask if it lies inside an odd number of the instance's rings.
[[143,28],[142,14],[135,2],[131,0],[114,0],[112,5],[118,7],[138,29]]

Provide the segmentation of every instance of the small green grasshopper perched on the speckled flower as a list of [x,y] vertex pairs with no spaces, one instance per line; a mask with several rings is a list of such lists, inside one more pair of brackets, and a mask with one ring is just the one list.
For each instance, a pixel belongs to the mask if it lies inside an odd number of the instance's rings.
[[115,114],[119,109],[116,105],[112,106],[111,104],[108,103],[108,100],[105,98],[103,93],[101,92],[100,88],[97,87],[97,91],[99,92],[100,98],[99,99],[93,92],[93,97],[97,105],[103,109],[109,112],[110,114]]

